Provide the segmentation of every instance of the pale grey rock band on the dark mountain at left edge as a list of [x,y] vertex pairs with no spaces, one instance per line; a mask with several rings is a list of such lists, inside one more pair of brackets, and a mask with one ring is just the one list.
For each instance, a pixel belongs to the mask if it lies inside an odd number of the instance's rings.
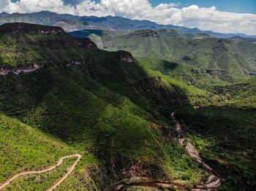
[[41,69],[42,67],[43,67],[42,65],[39,65],[37,63],[34,63],[33,66],[23,66],[23,67],[16,68],[16,69],[7,69],[4,67],[1,67],[0,75],[5,76],[9,73],[13,73],[16,75],[18,75],[20,73],[30,73],[30,72],[36,71],[37,69]]

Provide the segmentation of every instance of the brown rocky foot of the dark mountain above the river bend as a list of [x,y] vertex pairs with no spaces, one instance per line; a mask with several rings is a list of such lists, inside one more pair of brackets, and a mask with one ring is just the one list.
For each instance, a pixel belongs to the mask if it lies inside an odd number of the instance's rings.
[[[113,156],[112,156],[113,157]],[[102,190],[113,190],[116,184],[120,182],[138,182],[139,179],[156,179],[163,182],[170,181],[170,176],[162,171],[157,165],[148,163],[135,162],[131,160],[124,161],[113,157],[111,159],[112,166],[108,171],[106,168],[99,165],[89,165],[86,168],[86,176],[89,176],[94,182],[99,183]],[[107,177],[113,177],[108,179]]]

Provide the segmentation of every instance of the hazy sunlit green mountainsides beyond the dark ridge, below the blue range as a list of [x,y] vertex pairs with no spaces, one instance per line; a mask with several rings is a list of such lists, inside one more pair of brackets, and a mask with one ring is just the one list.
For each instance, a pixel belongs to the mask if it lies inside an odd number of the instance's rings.
[[256,75],[254,42],[215,39],[203,34],[189,36],[164,29],[123,35],[99,31],[93,36],[90,31],[71,34],[88,36],[105,50],[132,52],[154,71],[199,87],[225,85]]

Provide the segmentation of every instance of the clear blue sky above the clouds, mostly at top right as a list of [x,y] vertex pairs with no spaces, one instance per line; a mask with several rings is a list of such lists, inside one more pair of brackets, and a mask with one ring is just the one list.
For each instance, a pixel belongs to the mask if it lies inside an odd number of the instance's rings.
[[[16,2],[19,0],[12,0]],[[64,0],[66,4],[78,4],[82,0]],[[96,0],[99,2],[100,0]],[[225,12],[256,13],[256,0],[149,0],[156,7],[163,3],[177,3],[179,8],[196,4],[198,7],[215,6]]]

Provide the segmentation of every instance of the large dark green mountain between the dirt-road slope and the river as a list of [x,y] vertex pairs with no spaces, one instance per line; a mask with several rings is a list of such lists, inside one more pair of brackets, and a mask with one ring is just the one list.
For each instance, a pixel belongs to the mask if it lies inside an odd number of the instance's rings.
[[147,74],[129,52],[99,50],[58,27],[5,24],[0,44],[2,113],[83,155],[61,190],[136,179],[192,187],[207,176],[173,141],[167,118],[206,92]]

